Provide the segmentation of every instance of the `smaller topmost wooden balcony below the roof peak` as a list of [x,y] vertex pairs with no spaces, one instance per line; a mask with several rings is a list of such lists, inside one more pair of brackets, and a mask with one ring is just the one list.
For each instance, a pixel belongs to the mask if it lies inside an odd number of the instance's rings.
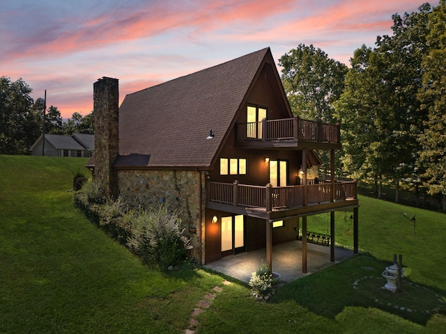
[[298,116],[279,120],[236,124],[236,144],[242,148],[292,148],[330,150],[341,148],[339,124],[332,125]]

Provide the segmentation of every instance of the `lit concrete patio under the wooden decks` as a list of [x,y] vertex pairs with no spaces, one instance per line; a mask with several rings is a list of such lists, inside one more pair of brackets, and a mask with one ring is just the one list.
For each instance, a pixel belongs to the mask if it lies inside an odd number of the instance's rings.
[[[353,250],[335,247],[334,262],[330,262],[330,247],[307,243],[307,273],[302,273],[302,241],[295,240],[272,246],[272,271],[280,273],[279,285],[284,285],[353,256]],[[262,262],[266,263],[266,248],[224,257],[204,267],[249,282]]]

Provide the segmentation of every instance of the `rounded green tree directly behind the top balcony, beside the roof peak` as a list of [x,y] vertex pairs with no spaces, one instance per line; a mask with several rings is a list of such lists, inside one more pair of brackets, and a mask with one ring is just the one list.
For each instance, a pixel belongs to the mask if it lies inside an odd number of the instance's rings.
[[279,59],[282,82],[293,113],[309,120],[334,120],[334,101],[344,90],[348,68],[321,49],[300,44]]

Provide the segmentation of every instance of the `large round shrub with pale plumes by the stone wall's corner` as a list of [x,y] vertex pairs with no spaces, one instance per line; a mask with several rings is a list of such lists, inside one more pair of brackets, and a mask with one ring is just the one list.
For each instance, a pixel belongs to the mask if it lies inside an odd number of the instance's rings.
[[171,212],[161,204],[135,216],[130,249],[139,253],[148,263],[155,263],[165,271],[169,266],[187,260],[187,251],[192,248],[185,237],[178,211]]

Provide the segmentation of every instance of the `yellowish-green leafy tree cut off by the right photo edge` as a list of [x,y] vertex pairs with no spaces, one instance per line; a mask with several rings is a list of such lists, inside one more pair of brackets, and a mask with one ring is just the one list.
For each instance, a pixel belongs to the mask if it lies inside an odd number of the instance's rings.
[[446,2],[433,9],[429,21],[427,42],[431,50],[422,61],[422,88],[418,98],[421,109],[428,112],[424,132],[419,136],[422,145],[417,161],[424,170],[425,186],[433,196],[441,195],[446,210]]

